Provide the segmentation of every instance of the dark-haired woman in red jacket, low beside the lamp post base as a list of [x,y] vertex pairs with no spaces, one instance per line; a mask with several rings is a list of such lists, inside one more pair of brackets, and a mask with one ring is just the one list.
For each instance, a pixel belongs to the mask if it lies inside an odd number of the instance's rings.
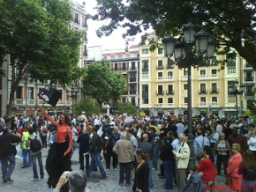
[[205,145],[202,154],[204,157],[200,159],[198,171],[203,182],[209,185],[213,183],[216,177],[215,159],[210,146]]

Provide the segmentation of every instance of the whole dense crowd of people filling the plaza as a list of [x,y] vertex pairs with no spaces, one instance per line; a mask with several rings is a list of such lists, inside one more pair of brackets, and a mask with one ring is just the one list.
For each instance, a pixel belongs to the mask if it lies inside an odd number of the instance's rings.
[[[72,173],[72,153],[79,144],[81,172],[76,174],[81,178],[90,177],[98,167],[99,178],[105,179],[106,171],[117,170],[119,165],[119,185],[131,186],[134,192],[147,192],[154,187],[152,172],[156,169],[160,169],[158,175],[165,180],[163,189],[166,190],[177,187],[179,191],[201,191],[215,185],[216,175],[230,180],[233,190],[256,189],[256,129],[246,116],[238,120],[227,115],[196,117],[192,122],[194,139],[188,141],[187,116],[182,114],[134,115],[132,122],[126,122],[124,115],[83,112],[70,117],[66,114],[50,116],[42,108],[39,111],[41,115],[34,117],[5,115],[1,120],[0,160],[4,182],[12,181],[19,143],[23,153],[22,168],[33,166],[31,181],[38,181],[37,160],[43,179],[41,150],[49,145],[45,167],[49,188],[55,191],[76,188],[77,182],[62,178]],[[189,142],[193,143],[193,151]],[[196,157],[197,163],[189,167],[191,156]],[[105,168],[102,159],[106,161]],[[157,164],[158,159],[162,160],[161,165]],[[72,174],[68,177],[72,178]],[[81,187],[83,191],[88,191],[86,186]]]

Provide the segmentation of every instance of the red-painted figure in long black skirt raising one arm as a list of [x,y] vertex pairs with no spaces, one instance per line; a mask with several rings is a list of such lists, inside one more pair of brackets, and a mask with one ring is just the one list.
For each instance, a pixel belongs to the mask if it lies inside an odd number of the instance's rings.
[[[59,122],[53,120],[49,114],[45,113],[42,107],[39,108],[46,119],[56,126],[56,140],[50,146],[48,157],[46,159],[46,170],[49,174],[49,188],[55,188],[58,178],[64,171],[72,171],[72,163],[70,159],[72,149],[72,130],[70,128],[69,116],[62,114]],[[68,192],[69,186],[65,184],[62,187],[62,192]]]

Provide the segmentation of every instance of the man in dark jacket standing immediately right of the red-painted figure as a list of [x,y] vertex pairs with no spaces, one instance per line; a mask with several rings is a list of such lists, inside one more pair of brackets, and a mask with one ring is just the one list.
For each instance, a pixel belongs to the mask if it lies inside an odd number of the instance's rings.
[[90,133],[92,130],[90,126],[87,129],[83,129],[83,134],[79,135],[79,164],[80,169],[85,171],[84,157],[86,158],[86,171],[89,169],[89,159],[90,156],[87,154],[87,151],[90,149]]

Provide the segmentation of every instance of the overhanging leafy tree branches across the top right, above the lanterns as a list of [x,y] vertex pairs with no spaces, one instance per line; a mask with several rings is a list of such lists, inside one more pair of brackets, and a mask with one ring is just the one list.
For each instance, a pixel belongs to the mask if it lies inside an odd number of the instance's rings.
[[[124,37],[136,35],[150,27],[159,38],[167,32],[176,36],[184,24],[192,22],[203,25],[216,41],[225,46],[218,54],[226,55],[226,59],[219,63],[230,63],[237,51],[256,70],[254,0],[97,0],[97,3],[97,14],[93,18],[109,21],[96,32],[99,37],[108,36],[120,26],[127,29]],[[143,35],[142,42],[146,37],[147,34]],[[160,46],[159,39],[150,42],[151,49]]]

